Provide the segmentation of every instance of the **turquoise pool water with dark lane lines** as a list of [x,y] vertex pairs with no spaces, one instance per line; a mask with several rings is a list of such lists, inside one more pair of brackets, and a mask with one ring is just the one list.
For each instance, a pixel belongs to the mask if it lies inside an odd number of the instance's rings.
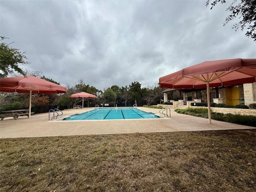
[[74,114],[63,120],[110,120],[110,119],[161,118],[136,108],[98,108],[82,114]]

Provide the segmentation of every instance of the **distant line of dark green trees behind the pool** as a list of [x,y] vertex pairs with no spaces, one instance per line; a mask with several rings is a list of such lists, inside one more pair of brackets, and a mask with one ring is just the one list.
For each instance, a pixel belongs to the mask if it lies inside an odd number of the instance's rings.
[[[46,78],[42,72],[29,72],[26,74],[34,75],[48,81],[58,83],[52,79]],[[19,76],[18,73],[15,74]],[[59,83],[58,83],[59,84]],[[78,92],[87,92],[96,95],[96,98],[84,98],[84,107],[94,107],[96,104],[104,106],[143,106],[145,104],[160,104],[162,95],[162,88],[155,84],[155,86],[148,86],[142,88],[139,82],[132,82],[128,86],[119,87],[113,85],[105,90],[98,90],[94,86],[86,84],[84,80],[78,80],[76,85],[67,85],[67,92],[65,94],[32,94],[32,106],[66,106],[66,108],[73,108],[75,105],[82,105],[82,98],[70,98],[69,96]],[[28,108],[29,95],[26,93],[8,93],[0,92],[0,108],[1,110],[12,110],[19,108]]]

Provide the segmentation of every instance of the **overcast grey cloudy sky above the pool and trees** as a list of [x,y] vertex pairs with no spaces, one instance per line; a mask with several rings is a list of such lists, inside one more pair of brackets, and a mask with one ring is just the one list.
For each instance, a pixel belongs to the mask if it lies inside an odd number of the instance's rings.
[[[0,32],[27,53],[21,66],[66,86],[104,90],[159,78],[204,61],[256,58],[246,31],[223,26],[231,1],[0,1]],[[237,22],[237,20],[236,20]]]

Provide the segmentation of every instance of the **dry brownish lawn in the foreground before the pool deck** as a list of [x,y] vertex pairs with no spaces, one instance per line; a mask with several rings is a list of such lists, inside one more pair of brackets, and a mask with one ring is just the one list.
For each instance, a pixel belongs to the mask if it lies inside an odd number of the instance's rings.
[[0,142],[0,191],[256,191],[253,129]]

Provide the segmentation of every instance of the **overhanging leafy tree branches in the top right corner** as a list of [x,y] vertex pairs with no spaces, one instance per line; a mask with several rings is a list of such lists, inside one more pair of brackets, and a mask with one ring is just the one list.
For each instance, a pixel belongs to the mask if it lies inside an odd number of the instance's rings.
[[[226,3],[226,0],[207,0],[206,6],[208,6],[210,2],[212,2],[212,9],[218,2],[223,4]],[[238,30],[239,28],[244,30],[244,28],[248,25],[248,31],[245,35],[256,41],[256,0],[238,0],[238,2],[239,3],[237,3],[237,0],[233,0],[230,6],[226,9],[227,11],[230,11],[231,14],[226,18],[223,25],[226,25],[229,21],[236,18],[236,16],[239,16],[239,18],[242,18],[242,20],[240,20],[240,22],[235,24],[232,28],[234,30]]]

